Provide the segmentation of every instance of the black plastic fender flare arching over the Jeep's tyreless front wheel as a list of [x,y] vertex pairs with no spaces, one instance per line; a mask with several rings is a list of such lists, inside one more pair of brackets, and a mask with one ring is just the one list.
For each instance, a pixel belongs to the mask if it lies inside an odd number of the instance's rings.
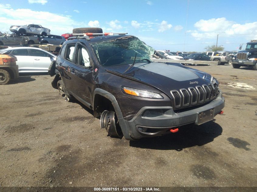
[[127,126],[124,122],[123,115],[122,115],[121,110],[120,110],[120,106],[119,106],[116,98],[113,96],[113,94],[109,93],[106,90],[96,88],[95,91],[94,91],[94,94],[93,94],[93,109],[94,109],[94,102],[95,102],[95,95],[96,94],[99,94],[99,95],[105,97],[106,99],[109,99],[112,102],[112,105],[114,107],[114,110],[116,112],[117,118],[118,118],[119,123],[120,123],[120,128],[122,130],[123,136],[127,140],[133,140],[131,138],[130,133],[128,132]]

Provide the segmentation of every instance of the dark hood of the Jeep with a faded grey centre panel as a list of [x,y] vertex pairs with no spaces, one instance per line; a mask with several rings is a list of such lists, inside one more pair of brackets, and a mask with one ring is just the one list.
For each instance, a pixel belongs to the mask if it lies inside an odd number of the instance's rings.
[[151,85],[170,98],[172,97],[171,90],[201,86],[203,84],[208,85],[211,79],[211,75],[196,69],[159,62],[136,63],[129,71],[123,74],[129,66],[108,66],[105,69],[108,72],[118,73],[120,76]]

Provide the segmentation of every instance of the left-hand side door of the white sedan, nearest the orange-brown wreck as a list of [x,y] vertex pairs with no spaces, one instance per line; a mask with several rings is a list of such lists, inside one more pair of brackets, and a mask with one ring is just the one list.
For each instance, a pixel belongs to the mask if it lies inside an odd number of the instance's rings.
[[33,58],[29,56],[28,49],[14,49],[10,55],[16,56],[16,64],[19,66],[19,72],[30,72],[34,70]]

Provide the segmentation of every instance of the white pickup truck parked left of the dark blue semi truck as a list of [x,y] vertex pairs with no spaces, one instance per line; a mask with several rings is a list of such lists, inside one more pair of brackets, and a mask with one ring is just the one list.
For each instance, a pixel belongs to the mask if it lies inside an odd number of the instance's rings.
[[217,61],[218,65],[231,64],[232,56],[229,56],[227,51],[207,51],[202,53],[208,55],[211,61]]

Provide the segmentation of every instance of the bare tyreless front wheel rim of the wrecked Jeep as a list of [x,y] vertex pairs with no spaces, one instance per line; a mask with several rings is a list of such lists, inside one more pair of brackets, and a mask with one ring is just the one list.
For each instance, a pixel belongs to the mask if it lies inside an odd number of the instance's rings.
[[102,112],[100,123],[101,128],[105,128],[109,136],[115,136],[119,138],[123,137],[118,118],[114,111],[105,110]]

